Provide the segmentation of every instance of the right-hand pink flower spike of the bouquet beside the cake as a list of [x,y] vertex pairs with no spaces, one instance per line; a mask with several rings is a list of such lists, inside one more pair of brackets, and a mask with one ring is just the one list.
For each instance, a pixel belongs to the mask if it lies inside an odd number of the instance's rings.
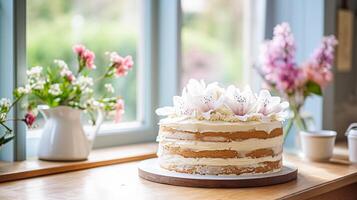
[[337,40],[334,36],[324,37],[320,46],[314,51],[310,60],[304,65],[303,70],[306,77],[325,87],[332,81],[331,72],[334,60],[334,47]]

